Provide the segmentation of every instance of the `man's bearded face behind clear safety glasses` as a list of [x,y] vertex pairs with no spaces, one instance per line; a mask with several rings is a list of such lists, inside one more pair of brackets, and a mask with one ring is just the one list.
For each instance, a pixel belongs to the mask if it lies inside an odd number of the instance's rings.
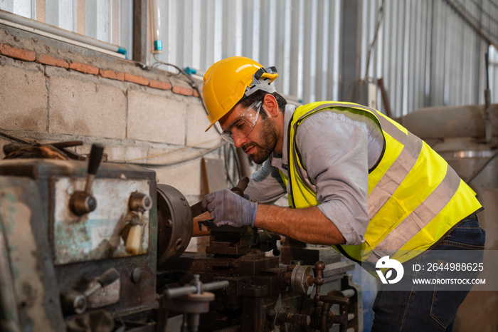
[[[230,113],[219,120],[221,128],[225,129],[240,117],[248,106],[237,105]],[[265,113],[265,105],[260,109],[260,115],[253,130],[245,138],[233,137],[235,147],[240,147],[256,164],[263,164],[270,157],[277,145],[277,130],[275,123]]]

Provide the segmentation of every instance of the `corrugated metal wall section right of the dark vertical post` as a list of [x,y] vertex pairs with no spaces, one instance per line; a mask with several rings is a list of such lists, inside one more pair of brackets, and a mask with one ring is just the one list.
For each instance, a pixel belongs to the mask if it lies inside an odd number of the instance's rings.
[[[487,3],[484,8],[489,13],[495,13],[494,21],[488,18],[482,25],[495,33],[498,13],[490,1],[481,2]],[[373,38],[375,13],[381,4],[381,0],[364,1],[362,73],[366,69],[366,48]],[[476,16],[484,15],[477,9]],[[427,106],[484,103],[484,53],[488,44],[447,1],[386,0],[384,15],[368,76],[383,78],[394,115]],[[490,88],[496,103],[498,67],[494,48],[490,58],[494,59],[490,63]]]

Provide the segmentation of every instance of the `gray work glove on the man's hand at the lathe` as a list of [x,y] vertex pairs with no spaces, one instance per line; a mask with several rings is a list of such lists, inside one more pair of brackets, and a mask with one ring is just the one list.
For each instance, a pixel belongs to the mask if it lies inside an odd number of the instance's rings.
[[209,211],[216,226],[254,227],[258,203],[250,202],[231,190],[219,190],[206,194],[202,206]]

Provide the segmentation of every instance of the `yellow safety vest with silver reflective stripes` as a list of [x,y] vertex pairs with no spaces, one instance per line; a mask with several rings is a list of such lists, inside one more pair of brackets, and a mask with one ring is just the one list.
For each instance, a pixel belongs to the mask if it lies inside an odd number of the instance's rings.
[[370,222],[365,242],[333,246],[345,256],[366,266],[375,265],[386,254],[403,263],[434,247],[460,220],[482,208],[475,192],[423,140],[373,108],[335,101],[300,106],[292,117],[287,142],[289,178],[280,172],[286,185],[290,180],[291,207],[319,204],[301,163],[295,133],[309,115],[330,108],[371,118],[384,138],[381,157],[369,170]]

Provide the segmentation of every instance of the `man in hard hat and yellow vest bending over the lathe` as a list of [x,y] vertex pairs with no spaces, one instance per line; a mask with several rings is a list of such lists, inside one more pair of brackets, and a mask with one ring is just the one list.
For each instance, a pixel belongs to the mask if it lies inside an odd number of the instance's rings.
[[[204,76],[209,128],[218,121],[223,138],[263,163],[245,190],[250,200],[230,190],[206,195],[216,224],[333,245],[371,271],[386,255],[422,264],[430,249],[484,249],[475,192],[425,142],[354,103],[295,108],[275,92],[275,78],[274,67],[244,57]],[[265,204],[286,192],[291,208]],[[382,290],[373,331],[451,331],[468,291]]]

